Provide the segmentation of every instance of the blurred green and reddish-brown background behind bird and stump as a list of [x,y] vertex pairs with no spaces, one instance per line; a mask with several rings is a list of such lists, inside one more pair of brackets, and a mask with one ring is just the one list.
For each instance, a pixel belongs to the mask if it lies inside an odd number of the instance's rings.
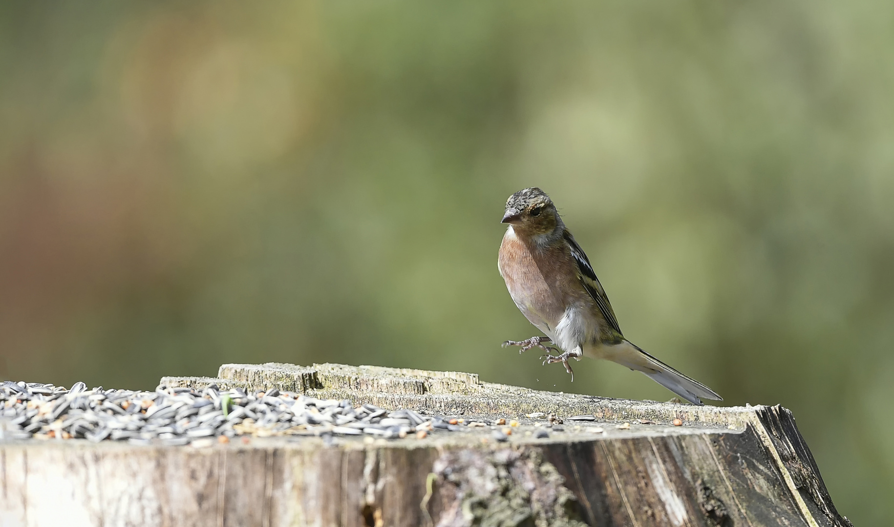
[[0,377],[339,362],[667,400],[496,269],[539,186],[629,339],[894,514],[894,4],[4,3]]

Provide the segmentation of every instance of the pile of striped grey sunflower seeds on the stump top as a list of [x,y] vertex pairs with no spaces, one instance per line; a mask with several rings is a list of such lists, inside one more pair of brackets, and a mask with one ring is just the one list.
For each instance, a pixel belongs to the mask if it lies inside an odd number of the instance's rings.
[[[316,399],[278,389],[246,393],[158,387],[155,391],[71,389],[52,384],[0,384],[0,439],[127,440],[133,444],[185,445],[254,437],[332,434],[424,438],[434,430],[460,431],[463,420],[423,416],[412,410],[387,411],[350,400]],[[469,422],[468,426],[503,424]],[[223,439],[225,438],[225,439]]]

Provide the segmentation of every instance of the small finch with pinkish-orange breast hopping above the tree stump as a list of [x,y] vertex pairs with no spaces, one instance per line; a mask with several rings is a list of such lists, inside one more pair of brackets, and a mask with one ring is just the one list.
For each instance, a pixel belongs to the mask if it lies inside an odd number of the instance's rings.
[[579,361],[586,356],[643,372],[694,405],[703,405],[703,397],[723,400],[713,389],[662,363],[624,337],[590,260],[543,190],[524,188],[512,194],[506,201],[502,223],[509,226],[502,238],[497,268],[515,305],[545,334],[507,340],[503,347],[519,346],[519,353],[542,348],[543,364],[563,364],[571,381],[574,372],[569,359]]

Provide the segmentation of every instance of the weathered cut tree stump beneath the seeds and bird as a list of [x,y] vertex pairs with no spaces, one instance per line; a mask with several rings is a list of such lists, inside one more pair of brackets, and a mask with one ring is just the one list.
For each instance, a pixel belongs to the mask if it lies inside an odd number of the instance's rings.
[[[0,526],[850,525],[780,406],[628,401],[341,364],[224,364],[216,378],[161,384],[277,388],[519,426],[505,442],[487,426],[204,448],[5,441]],[[592,417],[569,419],[580,415]],[[549,437],[529,433],[541,430]]]

